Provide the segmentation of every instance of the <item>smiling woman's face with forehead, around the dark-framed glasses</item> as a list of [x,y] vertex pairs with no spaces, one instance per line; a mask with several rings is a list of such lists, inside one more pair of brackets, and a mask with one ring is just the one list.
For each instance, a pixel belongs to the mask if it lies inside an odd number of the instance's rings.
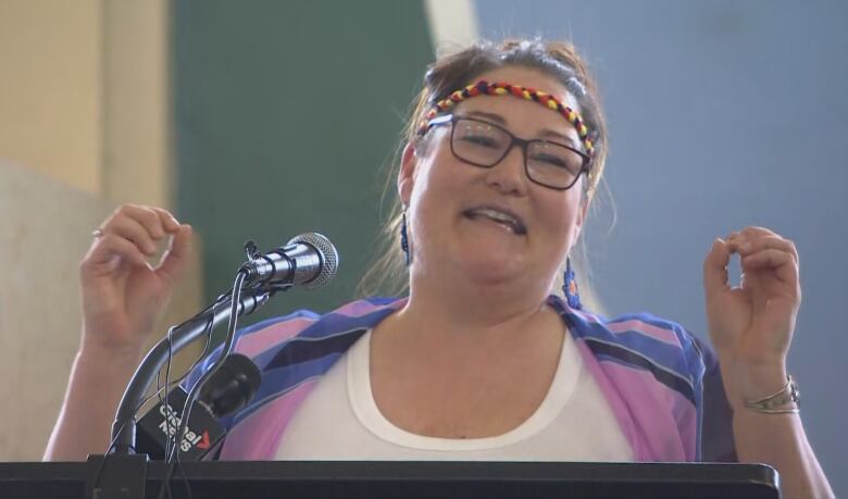
[[[501,67],[478,79],[533,87],[579,111],[560,83],[533,70]],[[583,150],[574,126],[537,102],[478,96],[458,104],[453,114],[499,125],[525,140]],[[583,224],[585,178],[569,190],[535,184],[519,146],[494,167],[473,166],[451,152],[451,126],[432,128],[425,142],[403,157],[398,188],[408,207],[412,278],[461,273],[479,284],[525,283],[548,292]]]

